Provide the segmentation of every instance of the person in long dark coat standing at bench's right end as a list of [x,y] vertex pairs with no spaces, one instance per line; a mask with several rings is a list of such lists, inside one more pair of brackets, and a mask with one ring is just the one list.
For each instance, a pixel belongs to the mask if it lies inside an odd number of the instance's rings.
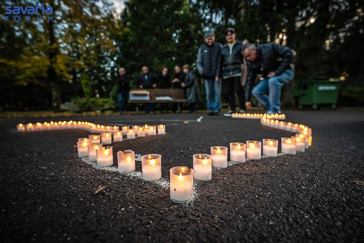
[[185,74],[185,78],[184,81],[181,83],[181,87],[186,88],[189,113],[196,113],[199,100],[199,90],[196,76],[190,69],[191,67],[188,64],[183,65],[183,73]]

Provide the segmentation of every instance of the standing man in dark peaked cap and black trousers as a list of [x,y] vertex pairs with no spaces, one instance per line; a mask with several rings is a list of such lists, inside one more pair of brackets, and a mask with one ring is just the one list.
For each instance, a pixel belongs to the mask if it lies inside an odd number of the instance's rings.
[[224,116],[231,116],[235,112],[235,93],[238,96],[240,113],[245,112],[243,87],[241,84],[243,42],[236,40],[234,28],[225,31],[227,44],[221,47],[220,59],[218,61],[216,80],[222,77],[226,87],[230,110]]

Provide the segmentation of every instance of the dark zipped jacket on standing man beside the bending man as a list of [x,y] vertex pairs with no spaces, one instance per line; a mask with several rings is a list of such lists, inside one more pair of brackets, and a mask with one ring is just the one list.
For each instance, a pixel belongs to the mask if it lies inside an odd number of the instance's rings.
[[237,40],[230,53],[227,44],[221,47],[221,54],[218,61],[217,77],[224,77],[242,73],[242,55],[243,44],[241,40]]

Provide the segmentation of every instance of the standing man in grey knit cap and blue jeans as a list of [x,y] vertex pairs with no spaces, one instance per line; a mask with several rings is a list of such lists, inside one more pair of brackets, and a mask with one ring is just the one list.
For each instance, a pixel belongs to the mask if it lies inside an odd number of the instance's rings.
[[212,116],[218,115],[221,109],[221,81],[215,81],[221,44],[215,42],[213,30],[207,30],[204,39],[206,44],[198,49],[196,63],[197,70],[204,79],[208,116]]

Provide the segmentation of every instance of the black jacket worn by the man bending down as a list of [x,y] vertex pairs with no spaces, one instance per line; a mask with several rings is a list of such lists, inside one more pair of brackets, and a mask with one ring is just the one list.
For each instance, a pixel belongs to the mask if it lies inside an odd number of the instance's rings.
[[250,100],[251,90],[257,74],[267,78],[271,71],[279,75],[286,69],[291,69],[294,53],[291,48],[274,42],[257,46],[258,56],[253,62],[247,61],[248,74],[246,77],[245,100]]

